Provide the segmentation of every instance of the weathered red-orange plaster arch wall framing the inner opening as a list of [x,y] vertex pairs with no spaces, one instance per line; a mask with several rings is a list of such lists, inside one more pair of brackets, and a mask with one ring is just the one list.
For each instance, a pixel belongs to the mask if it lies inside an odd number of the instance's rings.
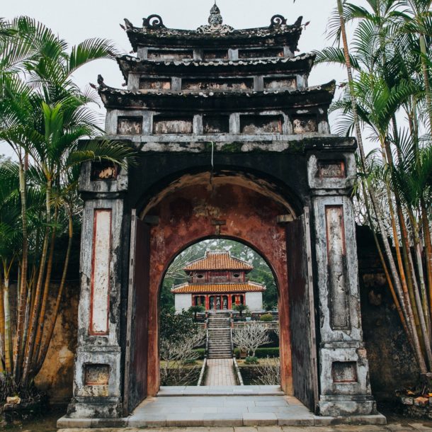
[[157,394],[160,385],[158,298],[164,273],[179,251],[200,239],[214,237],[236,239],[251,246],[266,257],[278,280],[281,387],[292,394],[285,222],[295,218],[293,213],[290,204],[268,189],[265,182],[245,176],[212,177],[208,173],[171,183],[140,212],[140,220],[153,223],[148,229],[147,394]]

